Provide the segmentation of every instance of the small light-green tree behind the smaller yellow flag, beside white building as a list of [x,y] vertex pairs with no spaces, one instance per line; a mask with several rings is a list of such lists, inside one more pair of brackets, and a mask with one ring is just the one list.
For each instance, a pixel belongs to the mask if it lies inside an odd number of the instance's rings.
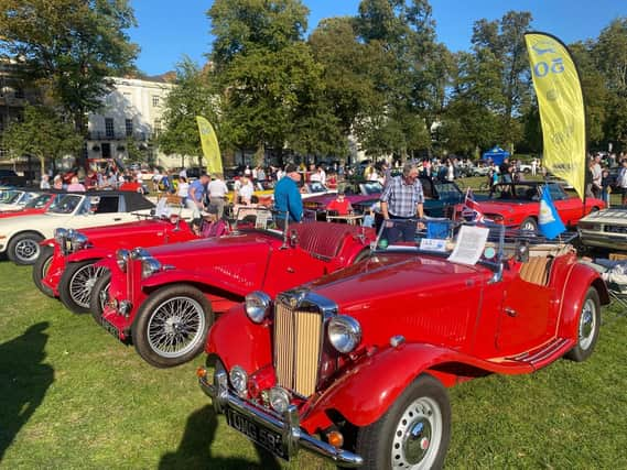
[[201,69],[190,57],[184,57],[176,66],[175,85],[164,102],[163,131],[158,144],[165,153],[199,156],[203,151],[196,116],[208,119],[216,132],[220,130],[208,69]]

